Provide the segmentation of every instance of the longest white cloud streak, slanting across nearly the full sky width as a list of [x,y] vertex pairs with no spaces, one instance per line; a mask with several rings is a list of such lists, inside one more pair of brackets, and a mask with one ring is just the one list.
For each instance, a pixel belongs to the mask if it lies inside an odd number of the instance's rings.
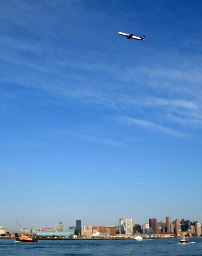
[[[39,67],[40,69],[40,67]],[[200,110],[199,105],[192,101],[186,101],[183,99],[166,99],[166,98],[158,98],[158,97],[136,97],[133,95],[122,94],[118,92],[105,92],[98,88],[95,89],[94,86],[89,88],[82,87],[66,87],[65,82],[58,83],[57,86],[53,86],[53,84],[44,84],[43,82],[33,83],[26,81],[26,79],[18,78],[15,80],[12,79],[4,79],[5,82],[15,83],[19,86],[25,86],[30,88],[38,88],[47,91],[57,90],[57,94],[75,98],[86,98],[86,101],[94,101],[98,104],[103,104],[108,106],[109,108],[115,109],[130,109],[133,106],[146,106],[149,108],[155,108],[158,106],[165,106],[169,109],[188,109],[192,111]]]

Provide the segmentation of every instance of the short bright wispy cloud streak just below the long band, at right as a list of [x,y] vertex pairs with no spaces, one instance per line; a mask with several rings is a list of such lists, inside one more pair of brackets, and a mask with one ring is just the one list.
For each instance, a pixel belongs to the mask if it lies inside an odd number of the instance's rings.
[[155,123],[147,121],[147,120],[136,119],[136,118],[123,116],[123,115],[115,115],[113,118],[115,118],[116,120],[118,120],[122,123],[128,123],[131,125],[142,126],[149,131],[160,131],[160,132],[169,134],[173,137],[188,137],[187,134],[182,134],[182,133],[176,132],[168,127],[165,127],[165,126],[159,125],[159,124],[155,124]]

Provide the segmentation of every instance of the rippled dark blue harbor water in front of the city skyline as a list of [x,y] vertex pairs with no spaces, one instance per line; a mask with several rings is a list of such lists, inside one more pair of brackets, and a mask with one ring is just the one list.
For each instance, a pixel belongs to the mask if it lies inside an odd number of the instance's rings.
[[202,238],[133,240],[39,240],[16,243],[0,239],[0,256],[192,256],[202,255]]

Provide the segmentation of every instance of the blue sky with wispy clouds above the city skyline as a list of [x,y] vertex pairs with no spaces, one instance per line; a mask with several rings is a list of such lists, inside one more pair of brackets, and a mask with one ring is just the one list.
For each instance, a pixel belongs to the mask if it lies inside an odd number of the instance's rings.
[[0,225],[202,222],[202,3],[0,5]]

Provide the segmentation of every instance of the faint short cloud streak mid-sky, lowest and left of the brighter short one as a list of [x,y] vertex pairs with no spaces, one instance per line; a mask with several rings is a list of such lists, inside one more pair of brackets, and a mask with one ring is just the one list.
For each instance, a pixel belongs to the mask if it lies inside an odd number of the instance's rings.
[[64,131],[64,130],[58,130],[57,131],[59,134],[62,135],[67,135],[69,137],[74,137],[76,139],[79,140],[87,140],[90,142],[95,142],[98,144],[104,144],[104,145],[108,145],[108,146],[115,146],[115,147],[124,147],[126,146],[124,143],[112,140],[112,139],[108,139],[108,138],[100,138],[100,137],[96,137],[96,136],[92,136],[92,135],[86,135],[86,134],[81,134],[81,133],[72,133],[69,131]]

